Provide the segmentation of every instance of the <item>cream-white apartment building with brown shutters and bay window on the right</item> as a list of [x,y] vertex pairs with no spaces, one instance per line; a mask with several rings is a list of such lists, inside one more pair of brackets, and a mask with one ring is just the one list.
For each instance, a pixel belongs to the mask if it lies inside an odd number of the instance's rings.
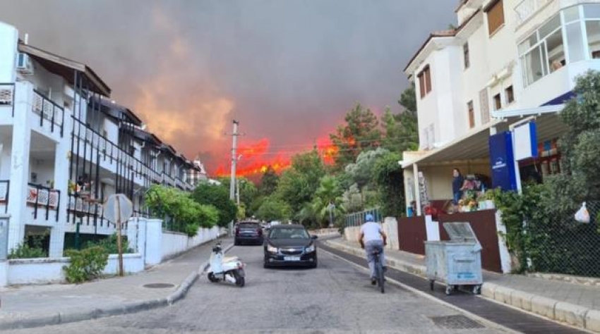
[[575,78],[600,70],[600,1],[462,0],[456,13],[458,27],[432,33],[404,69],[416,85],[420,145],[401,161],[407,205],[424,191],[451,199],[452,168],[491,175],[489,136],[527,116],[540,158],[520,163],[522,178],[560,173],[557,113]]

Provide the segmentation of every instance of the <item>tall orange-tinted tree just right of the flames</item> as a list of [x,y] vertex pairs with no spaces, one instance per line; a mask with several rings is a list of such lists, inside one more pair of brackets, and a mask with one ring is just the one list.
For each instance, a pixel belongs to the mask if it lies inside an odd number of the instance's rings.
[[356,161],[361,151],[374,149],[381,142],[379,121],[371,109],[364,109],[361,104],[356,104],[344,120],[346,124],[338,126],[335,133],[329,135],[331,142],[337,147],[334,160],[338,171]]

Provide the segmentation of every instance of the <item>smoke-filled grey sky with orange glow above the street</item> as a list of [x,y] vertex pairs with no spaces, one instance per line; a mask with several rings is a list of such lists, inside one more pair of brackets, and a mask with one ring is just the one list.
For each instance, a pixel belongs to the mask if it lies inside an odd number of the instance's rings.
[[229,166],[234,119],[250,170],[323,142],[356,102],[400,111],[402,69],[455,23],[457,3],[2,0],[0,20],[88,64],[112,99],[215,173]]

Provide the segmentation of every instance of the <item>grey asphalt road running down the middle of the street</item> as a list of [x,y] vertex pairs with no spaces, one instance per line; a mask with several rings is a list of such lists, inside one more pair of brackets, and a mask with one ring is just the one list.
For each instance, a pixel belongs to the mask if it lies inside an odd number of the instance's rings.
[[382,295],[364,268],[327,252],[316,269],[263,269],[259,246],[228,255],[246,262],[245,287],[203,276],[170,307],[6,333],[500,333],[391,282]]

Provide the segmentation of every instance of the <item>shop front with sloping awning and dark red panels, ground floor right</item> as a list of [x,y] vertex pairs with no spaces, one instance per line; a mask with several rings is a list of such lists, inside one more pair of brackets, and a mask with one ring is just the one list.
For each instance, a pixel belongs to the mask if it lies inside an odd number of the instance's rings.
[[[565,126],[558,117],[560,109],[562,106],[511,111],[437,149],[405,152],[400,163],[404,168],[407,210],[405,217],[397,219],[400,249],[423,254],[424,241],[444,240],[442,223],[468,221],[484,247],[484,268],[509,272],[508,249],[498,237],[505,233],[505,227],[486,193],[493,184],[489,139],[509,130],[511,124],[531,118],[536,123],[538,156],[519,161],[517,175],[522,183],[542,182],[544,177],[560,173],[561,169],[557,140]],[[456,204],[452,201],[454,168],[462,173],[467,189]]]

